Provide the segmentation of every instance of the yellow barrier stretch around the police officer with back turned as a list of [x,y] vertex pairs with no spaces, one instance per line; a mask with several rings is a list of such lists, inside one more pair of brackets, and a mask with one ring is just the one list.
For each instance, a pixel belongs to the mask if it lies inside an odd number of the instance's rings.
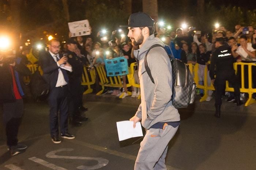
[[[190,65],[190,64],[189,64]],[[254,98],[252,98],[252,94],[256,93],[256,89],[252,88],[252,66],[256,66],[255,63],[242,63],[242,62],[236,62],[234,63],[234,69],[236,70],[237,73],[237,66],[240,65],[241,66],[241,88],[240,88],[240,92],[241,93],[248,93],[249,94],[249,98],[245,103],[245,106],[248,106],[250,104],[256,103],[256,100]],[[248,84],[249,84],[249,88],[244,88],[244,66],[247,65],[248,66]],[[208,90],[215,90],[214,86],[211,84],[211,86],[207,85],[207,67],[205,67],[204,69],[204,85],[199,85],[199,78],[198,78],[198,66],[199,64],[196,64],[194,67],[194,81],[197,84],[197,88],[199,89],[203,89],[204,90],[204,96],[200,99],[200,101],[205,101],[207,98],[207,91]],[[226,92],[234,92],[234,88],[229,87],[229,83],[226,81]]]

